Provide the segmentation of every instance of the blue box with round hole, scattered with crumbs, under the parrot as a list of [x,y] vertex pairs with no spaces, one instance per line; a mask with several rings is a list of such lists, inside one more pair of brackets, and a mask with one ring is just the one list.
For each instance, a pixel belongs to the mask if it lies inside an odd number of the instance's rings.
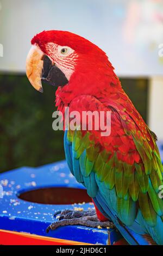
[[[42,167],[22,167],[0,175],[0,229],[91,244],[113,245],[122,236],[115,229],[66,226],[49,231],[55,211],[93,207],[85,188],[70,173],[66,161]],[[1,242],[1,241],[0,241]]]

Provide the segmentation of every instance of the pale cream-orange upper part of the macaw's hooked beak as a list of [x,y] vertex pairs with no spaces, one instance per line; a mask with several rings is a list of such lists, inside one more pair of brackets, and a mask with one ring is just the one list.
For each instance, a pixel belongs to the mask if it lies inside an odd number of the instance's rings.
[[43,93],[41,79],[43,69],[43,52],[39,47],[33,45],[27,55],[26,74],[32,86]]

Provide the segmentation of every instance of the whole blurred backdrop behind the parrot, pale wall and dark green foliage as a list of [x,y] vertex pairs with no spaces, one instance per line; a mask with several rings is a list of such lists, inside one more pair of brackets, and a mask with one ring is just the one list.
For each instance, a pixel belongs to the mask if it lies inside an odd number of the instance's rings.
[[163,141],[162,0],[0,0],[0,172],[65,158],[63,132],[52,130],[55,89],[40,94],[26,77],[30,40],[49,29],[101,47]]

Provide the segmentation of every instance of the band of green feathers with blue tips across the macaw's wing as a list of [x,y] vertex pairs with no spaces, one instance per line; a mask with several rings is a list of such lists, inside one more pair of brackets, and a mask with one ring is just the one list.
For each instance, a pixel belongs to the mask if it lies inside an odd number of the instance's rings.
[[163,185],[163,168],[154,140],[153,147],[147,140],[131,132],[128,136],[133,136],[140,160],[129,164],[118,159],[118,151],[107,151],[100,143],[95,144],[90,135],[90,132],[71,130],[67,133],[67,139],[72,143],[73,157],[79,160],[83,176],[77,180],[86,186],[91,197],[96,196],[99,184],[105,187],[104,194],[107,190],[115,189],[116,211],[124,224],[131,225],[140,209],[147,224],[154,227],[157,215],[163,215],[163,201],[158,196],[159,187]]

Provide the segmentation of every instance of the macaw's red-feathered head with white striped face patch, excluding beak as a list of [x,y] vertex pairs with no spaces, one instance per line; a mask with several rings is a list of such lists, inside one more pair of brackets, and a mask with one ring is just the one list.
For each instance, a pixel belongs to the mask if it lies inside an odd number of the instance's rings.
[[[65,31],[43,31],[31,42],[67,77],[68,83],[57,90],[57,95],[67,103],[81,93],[100,97],[112,90],[111,84],[120,86],[105,52],[82,36]],[[62,46],[70,47],[72,54],[66,58],[58,56]]]

